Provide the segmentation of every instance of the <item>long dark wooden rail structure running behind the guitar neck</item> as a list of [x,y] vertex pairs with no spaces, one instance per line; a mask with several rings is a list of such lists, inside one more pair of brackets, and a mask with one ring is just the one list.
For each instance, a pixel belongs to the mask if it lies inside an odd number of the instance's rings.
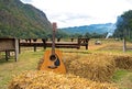
[[[89,38],[78,38],[77,42],[55,42],[55,47],[57,48],[80,48],[80,46],[86,46],[88,49]],[[20,42],[20,47],[34,47],[34,52],[36,47],[52,47],[52,42],[47,42],[47,40],[42,38],[42,42]]]

